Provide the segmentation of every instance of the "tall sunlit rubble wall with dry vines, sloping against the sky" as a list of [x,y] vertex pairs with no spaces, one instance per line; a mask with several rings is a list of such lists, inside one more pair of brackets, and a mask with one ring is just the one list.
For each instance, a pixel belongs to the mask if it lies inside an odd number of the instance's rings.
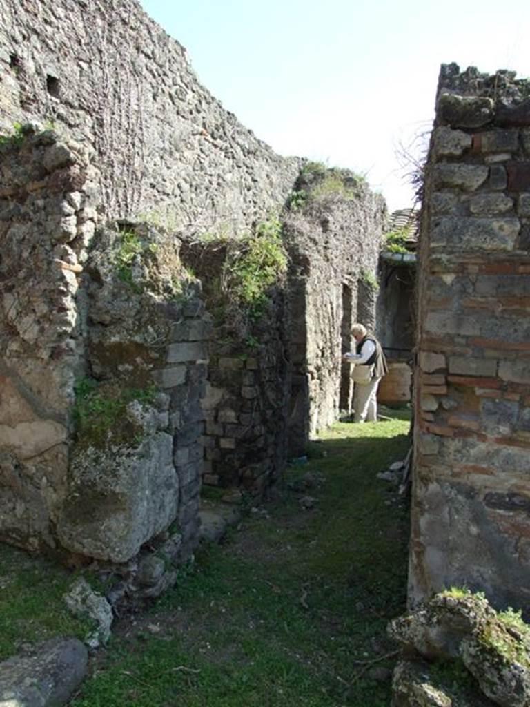
[[93,148],[107,218],[237,232],[283,204],[298,160],[201,86],[134,0],[0,0],[0,132],[53,122]]

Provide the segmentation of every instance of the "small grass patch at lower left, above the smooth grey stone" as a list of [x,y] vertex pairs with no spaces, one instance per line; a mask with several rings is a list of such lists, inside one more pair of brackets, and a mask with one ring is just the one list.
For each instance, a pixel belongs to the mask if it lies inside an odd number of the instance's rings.
[[62,600],[72,581],[73,574],[54,563],[1,546],[0,660],[23,643],[86,636],[92,626],[74,619]]

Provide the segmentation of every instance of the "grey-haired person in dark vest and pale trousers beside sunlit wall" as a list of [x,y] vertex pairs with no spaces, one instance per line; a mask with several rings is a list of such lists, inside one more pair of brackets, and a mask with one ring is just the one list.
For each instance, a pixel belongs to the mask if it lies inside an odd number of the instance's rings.
[[388,372],[387,360],[379,341],[368,334],[362,324],[354,324],[351,334],[356,341],[355,354],[343,355],[343,361],[355,363],[353,381],[353,421],[377,421],[377,388],[379,381]]

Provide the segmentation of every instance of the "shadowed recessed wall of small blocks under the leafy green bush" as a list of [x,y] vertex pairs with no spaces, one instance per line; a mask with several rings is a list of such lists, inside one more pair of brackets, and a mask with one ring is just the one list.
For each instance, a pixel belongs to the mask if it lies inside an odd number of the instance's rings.
[[[185,262],[204,284],[213,316],[203,400],[204,482],[261,493],[285,467],[290,366],[285,282],[278,275],[259,316],[237,301],[228,269],[245,239],[195,242]],[[228,280],[228,281],[227,281]]]

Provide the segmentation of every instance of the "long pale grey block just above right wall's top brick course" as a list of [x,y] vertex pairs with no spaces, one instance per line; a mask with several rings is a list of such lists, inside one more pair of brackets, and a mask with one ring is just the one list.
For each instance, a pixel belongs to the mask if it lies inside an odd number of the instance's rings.
[[432,247],[513,250],[521,223],[518,218],[437,218],[432,228]]

